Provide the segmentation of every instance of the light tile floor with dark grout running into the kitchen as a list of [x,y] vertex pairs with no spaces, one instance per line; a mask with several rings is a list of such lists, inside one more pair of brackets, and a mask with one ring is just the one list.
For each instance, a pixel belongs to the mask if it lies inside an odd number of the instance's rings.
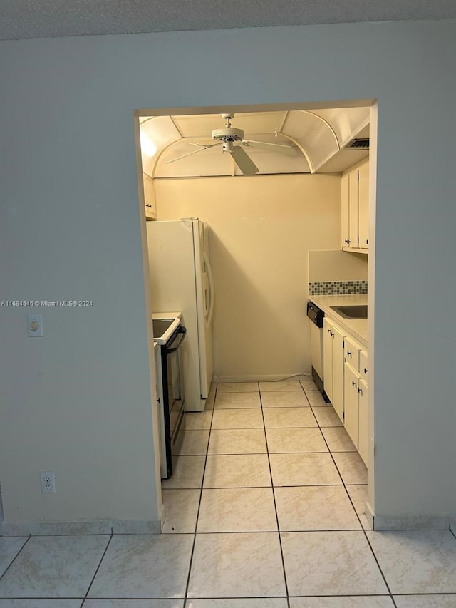
[[0,608],[456,608],[455,535],[369,530],[366,467],[311,380],[214,388],[163,534],[0,537]]

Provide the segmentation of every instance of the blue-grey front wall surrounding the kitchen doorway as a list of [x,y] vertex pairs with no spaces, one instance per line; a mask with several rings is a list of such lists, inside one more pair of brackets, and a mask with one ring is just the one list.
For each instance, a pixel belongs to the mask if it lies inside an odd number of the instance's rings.
[[[6,520],[157,516],[133,110],[353,98],[378,98],[375,512],[454,512],[455,21],[4,41],[0,57],[2,297],[94,302],[43,310],[43,339],[0,310]],[[58,473],[46,500],[41,469]]]

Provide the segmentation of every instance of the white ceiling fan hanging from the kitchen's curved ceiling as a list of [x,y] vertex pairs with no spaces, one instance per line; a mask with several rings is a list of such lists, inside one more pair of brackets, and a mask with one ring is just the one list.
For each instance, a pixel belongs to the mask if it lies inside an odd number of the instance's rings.
[[[191,145],[196,145],[198,147],[197,150],[193,150],[192,152],[188,152],[187,154],[182,154],[181,156],[177,156],[177,158],[172,158],[167,161],[167,164],[174,163],[176,160],[180,160],[181,158],[186,158],[192,154],[196,154],[198,152],[202,152],[203,150],[208,150],[209,148],[215,148],[217,145],[222,146],[222,152],[227,152],[231,155],[234,163],[237,164],[239,169],[242,171],[244,175],[254,175],[259,172],[259,168],[253,160],[249,157],[249,155],[242,148],[242,145],[249,146],[251,144],[261,144],[261,145],[274,145],[278,148],[291,148],[291,145],[286,145],[282,143],[270,143],[266,141],[255,141],[255,140],[247,140],[244,139],[244,131],[242,129],[236,129],[232,127],[231,121],[234,117],[234,114],[222,114],[222,118],[225,120],[225,126],[223,129],[214,129],[212,131],[212,140],[217,140],[217,143],[192,143]],[[277,133],[276,133],[277,135]],[[235,142],[238,142],[242,145],[234,145]]]

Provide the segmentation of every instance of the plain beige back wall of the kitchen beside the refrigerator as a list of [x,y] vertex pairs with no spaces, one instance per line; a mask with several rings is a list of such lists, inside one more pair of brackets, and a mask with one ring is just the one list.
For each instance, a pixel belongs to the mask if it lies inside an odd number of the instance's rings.
[[240,380],[310,372],[309,249],[340,241],[339,175],[156,180],[157,219],[212,228],[214,371]]

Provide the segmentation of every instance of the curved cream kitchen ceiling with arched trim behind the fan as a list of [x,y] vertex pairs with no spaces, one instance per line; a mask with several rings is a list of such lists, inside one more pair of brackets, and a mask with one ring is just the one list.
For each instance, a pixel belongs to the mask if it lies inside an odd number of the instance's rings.
[[[234,140],[257,175],[341,172],[368,157],[369,108],[236,113]],[[220,114],[140,116],[142,170],[152,180],[242,175],[213,133]]]

